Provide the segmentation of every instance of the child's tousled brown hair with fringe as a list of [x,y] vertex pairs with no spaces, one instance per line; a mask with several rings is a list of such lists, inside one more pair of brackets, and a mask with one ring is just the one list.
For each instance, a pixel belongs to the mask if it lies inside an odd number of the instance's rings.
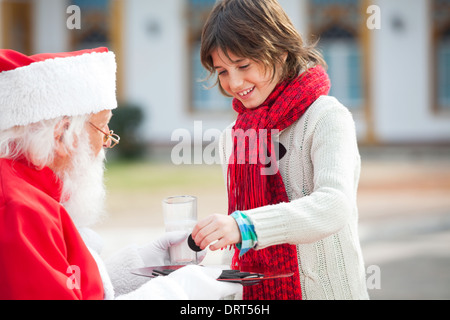
[[[326,63],[315,49],[306,46],[276,0],[219,0],[211,11],[202,32],[200,58],[210,77],[216,72],[211,54],[221,50],[261,62],[266,71],[282,66],[281,81],[294,79],[302,71]],[[287,53],[286,62],[283,55]],[[231,59],[230,59],[231,60]],[[229,96],[219,84],[222,94]]]

